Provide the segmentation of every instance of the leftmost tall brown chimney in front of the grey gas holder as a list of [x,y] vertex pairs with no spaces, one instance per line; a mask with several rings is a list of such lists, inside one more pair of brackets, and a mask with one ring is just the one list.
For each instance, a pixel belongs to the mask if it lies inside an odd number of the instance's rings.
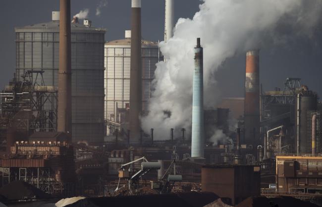
[[60,0],[57,131],[72,132],[70,0]]

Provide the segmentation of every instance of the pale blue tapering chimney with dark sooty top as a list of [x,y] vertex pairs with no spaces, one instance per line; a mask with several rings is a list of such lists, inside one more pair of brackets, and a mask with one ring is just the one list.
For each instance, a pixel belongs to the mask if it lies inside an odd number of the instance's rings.
[[204,157],[204,72],[203,48],[197,38],[192,98],[192,143],[191,157]]

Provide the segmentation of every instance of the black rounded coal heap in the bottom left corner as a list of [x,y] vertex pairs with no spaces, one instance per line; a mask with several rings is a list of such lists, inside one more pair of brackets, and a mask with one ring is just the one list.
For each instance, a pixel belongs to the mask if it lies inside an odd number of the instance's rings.
[[13,181],[3,186],[0,188],[0,195],[7,200],[51,198],[49,194],[23,181]]

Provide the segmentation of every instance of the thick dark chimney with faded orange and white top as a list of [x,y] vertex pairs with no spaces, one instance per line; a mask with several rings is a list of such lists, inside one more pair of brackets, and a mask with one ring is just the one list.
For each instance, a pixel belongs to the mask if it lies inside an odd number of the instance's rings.
[[[246,53],[246,80],[245,80],[245,142],[258,145],[260,138],[260,66],[259,51]],[[255,149],[255,147],[254,147]]]

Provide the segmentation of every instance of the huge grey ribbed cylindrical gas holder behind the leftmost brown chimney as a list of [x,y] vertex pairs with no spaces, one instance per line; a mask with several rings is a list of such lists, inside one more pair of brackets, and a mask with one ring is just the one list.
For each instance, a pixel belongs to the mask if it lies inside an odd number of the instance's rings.
[[[40,70],[44,82],[58,86],[59,12],[50,22],[15,28],[16,80],[26,71]],[[105,30],[71,23],[71,90],[73,141],[104,138],[104,36]],[[31,76],[36,79],[36,74]],[[49,106],[51,107],[51,106]]]

